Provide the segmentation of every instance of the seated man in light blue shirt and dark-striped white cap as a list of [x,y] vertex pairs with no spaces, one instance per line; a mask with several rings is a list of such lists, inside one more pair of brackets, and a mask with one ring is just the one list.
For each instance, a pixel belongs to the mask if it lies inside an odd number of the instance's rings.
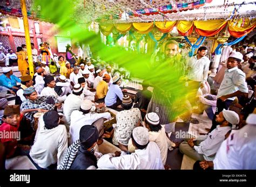
[[119,75],[116,75],[113,77],[113,84],[109,86],[109,91],[107,91],[105,97],[105,105],[110,109],[122,108],[121,104],[124,96],[122,91],[126,92],[127,90],[120,89],[121,82]]

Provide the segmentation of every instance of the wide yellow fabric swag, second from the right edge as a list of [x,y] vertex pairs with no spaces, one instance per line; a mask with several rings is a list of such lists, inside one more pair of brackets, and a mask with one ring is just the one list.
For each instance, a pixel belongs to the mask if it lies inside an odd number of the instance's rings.
[[205,31],[215,31],[225,25],[227,21],[220,20],[207,20],[207,21],[194,21],[194,26]]

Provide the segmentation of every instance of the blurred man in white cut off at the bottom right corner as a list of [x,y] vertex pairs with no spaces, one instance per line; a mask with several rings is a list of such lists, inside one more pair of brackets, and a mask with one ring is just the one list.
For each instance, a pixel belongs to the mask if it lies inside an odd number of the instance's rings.
[[233,130],[221,144],[214,169],[256,169],[256,114],[249,114],[240,130]]

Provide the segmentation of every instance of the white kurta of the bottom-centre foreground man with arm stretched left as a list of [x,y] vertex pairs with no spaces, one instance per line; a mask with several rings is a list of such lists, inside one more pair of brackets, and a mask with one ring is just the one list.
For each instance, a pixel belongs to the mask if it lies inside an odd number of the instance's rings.
[[155,142],[149,142],[145,149],[136,149],[135,153],[114,157],[105,154],[98,160],[99,169],[164,169],[160,150]]

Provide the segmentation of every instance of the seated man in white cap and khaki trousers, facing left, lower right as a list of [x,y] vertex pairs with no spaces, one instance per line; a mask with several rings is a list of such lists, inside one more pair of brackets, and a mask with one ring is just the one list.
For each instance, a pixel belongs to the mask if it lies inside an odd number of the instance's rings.
[[217,114],[215,120],[219,125],[206,135],[204,141],[195,142],[195,139],[191,138],[187,142],[181,142],[180,152],[197,161],[213,161],[221,143],[225,140],[226,133],[233,125],[239,123],[239,116],[234,111],[223,110]]

